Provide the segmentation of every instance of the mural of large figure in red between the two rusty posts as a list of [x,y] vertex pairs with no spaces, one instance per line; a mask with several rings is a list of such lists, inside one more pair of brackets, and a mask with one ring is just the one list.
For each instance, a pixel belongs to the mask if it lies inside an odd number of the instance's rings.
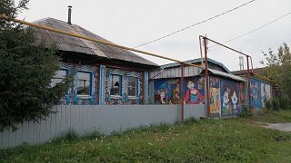
[[204,103],[205,84],[204,78],[187,78],[184,88],[184,103],[200,104]]

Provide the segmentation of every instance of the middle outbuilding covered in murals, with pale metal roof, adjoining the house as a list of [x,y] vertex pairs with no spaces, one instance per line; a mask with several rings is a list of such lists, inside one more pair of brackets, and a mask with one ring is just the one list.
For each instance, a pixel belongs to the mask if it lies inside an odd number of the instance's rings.
[[[204,59],[203,59],[204,60]],[[201,59],[187,61],[200,64]],[[239,114],[246,106],[246,80],[232,74],[224,64],[212,59],[209,64],[209,103],[211,117],[228,117]],[[171,63],[149,74],[149,101],[155,104],[206,105],[205,70],[185,66],[181,82],[181,66]],[[181,85],[183,85],[181,89]],[[183,92],[183,94],[181,93]],[[206,108],[206,107],[205,107]]]

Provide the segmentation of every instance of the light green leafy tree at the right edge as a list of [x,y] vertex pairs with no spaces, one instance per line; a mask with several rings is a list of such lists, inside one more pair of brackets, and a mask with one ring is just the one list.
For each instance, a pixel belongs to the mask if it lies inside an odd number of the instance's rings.
[[274,53],[269,49],[264,53],[266,57],[265,75],[276,81],[278,97],[291,98],[291,53],[286,43],[283,43]]

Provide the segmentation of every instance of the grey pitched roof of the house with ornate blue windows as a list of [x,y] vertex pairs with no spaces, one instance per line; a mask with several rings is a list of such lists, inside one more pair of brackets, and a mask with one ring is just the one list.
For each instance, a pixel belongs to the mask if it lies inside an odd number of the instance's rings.
[[[104,38],[93,34],[79,25],[76,24],[67,24],[63,21],[54,19],[54,18],[44,18],[38,21],[35,21],[36,24],[43,24],[45,26],[49,26],[58,30],[66,31],[74,34],[81,34],[87,37],[92,37],[97,40],[105,40]],[[131,53],[127,50],[123,50],[120,48],[115,48],[113,46],[105,45],[102,43],[94,43],[91,41],[87,41],[84,39],[80,39],[77,37],[65,35],[65,34],[57,34],[54,32],[37,29],[36,30],[37,37],[43,40],[45,43],[56,43],[58,50],[65,52],[75,52],[80,54],[90,54],[98,57],[104,57],[108,59],[121,60],[126,62],[135,62],[146,65],[154,65],[158,66],[155,62],[150,62],[145,58]],[[110,42],[109,42],[110,43]]]

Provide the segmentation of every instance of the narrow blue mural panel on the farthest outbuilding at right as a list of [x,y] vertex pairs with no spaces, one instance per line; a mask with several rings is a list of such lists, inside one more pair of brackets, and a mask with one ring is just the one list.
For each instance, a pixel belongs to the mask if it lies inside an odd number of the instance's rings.
[[255,79],[251,79],[251,103],[253,108],[262,108],[261,82]]

